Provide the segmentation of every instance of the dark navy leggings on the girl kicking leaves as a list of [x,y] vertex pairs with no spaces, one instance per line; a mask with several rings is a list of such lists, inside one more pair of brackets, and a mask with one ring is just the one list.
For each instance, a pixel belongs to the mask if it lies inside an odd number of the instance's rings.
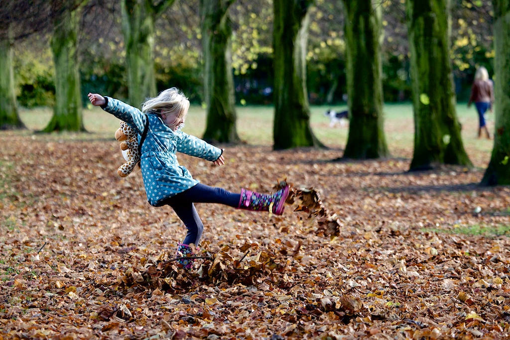
[[188,234],[183,244],[193,243],[198,246],[202,237],[203,223],[198,216],[193,203],[219,203],[237,208],[241,194],[226,191],[223,188],[213,188],[203,184],[183,191],[164,201],[164,205],[170,205],[175,214],[184,222],[188,228]]

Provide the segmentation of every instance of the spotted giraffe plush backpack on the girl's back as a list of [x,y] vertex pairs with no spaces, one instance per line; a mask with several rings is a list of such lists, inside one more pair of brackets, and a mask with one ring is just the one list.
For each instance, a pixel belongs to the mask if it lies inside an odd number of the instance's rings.
[[117,174],[126,177],[133,170],[140,168],[140,153],[138,152],[138,134],[126,122],[120,121],[120,127],[115,132],[115,139],[120,142],[120,150],[126,163],[122,164]]

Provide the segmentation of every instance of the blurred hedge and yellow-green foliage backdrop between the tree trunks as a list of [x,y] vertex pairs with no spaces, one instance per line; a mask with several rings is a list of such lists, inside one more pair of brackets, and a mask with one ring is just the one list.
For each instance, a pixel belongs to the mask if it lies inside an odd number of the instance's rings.
[[[272,103],[272,2],[238,1],[230,8],[234,27],[232,66],[238,104]],[[384,99],[409,101],[409,42],[403,1],[381,1]],[[346,101],[346,51],[341,2],[318,0],[310,9],[307,87],[311,104]],[[455,93],[467,101],[476,67],[494,71],[492,4],[455,0],[451,4],[451,51]],[[113,18],[113,20],[112,20]],[[182,89],[193,103],[203,101],[198,1],[177,1],[156,22],[155,64],[158,91]],[[83,103],[89,91],[127,98],[120,2],[88,2],[79,31]],[[55,104],[55,69],[49,36],[35,35],[14,45],[16,95],[22,107]]]

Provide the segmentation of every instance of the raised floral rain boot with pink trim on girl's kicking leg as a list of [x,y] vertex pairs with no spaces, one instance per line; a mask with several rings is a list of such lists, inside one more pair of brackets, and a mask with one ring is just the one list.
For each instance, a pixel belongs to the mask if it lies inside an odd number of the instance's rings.
[[274,215],[284,213],[285,200],[289,196],[289,186],[278,190],[272,195],[259,194],[246,189],[241,189],[241,199],[239,200],[239,209],[252,210],[257,212],[269,211],[269,206],[273,203],[272,212]]

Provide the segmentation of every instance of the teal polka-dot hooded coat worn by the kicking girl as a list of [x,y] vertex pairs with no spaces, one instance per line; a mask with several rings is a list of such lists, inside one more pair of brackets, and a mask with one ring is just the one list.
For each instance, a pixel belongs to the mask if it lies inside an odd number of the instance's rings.
[[221,149],[181,130],[173,131],[163,123],[158,114],[144,114],[120,100],[105,98],[107,102],[101,108],[129,124],[138,132],[139,141],[146,119],[149,120],[147,135],[141,148],[140,166],[150,205],[160,206],[165,199],[198,184],[198,180],[193,179],[188,169],[177,162],[177,151],[211,162],[221,156]]

